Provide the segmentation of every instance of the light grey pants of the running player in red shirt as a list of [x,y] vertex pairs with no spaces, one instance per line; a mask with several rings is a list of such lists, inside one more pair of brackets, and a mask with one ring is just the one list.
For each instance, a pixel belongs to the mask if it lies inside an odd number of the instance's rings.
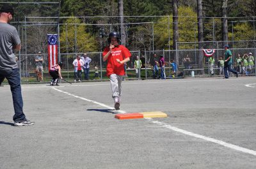
[[112,74],[110,75],[110,83],[111,83],[111,90],[112,90],[112,98],[118,98],[122,96],[122,78],[123,76]]

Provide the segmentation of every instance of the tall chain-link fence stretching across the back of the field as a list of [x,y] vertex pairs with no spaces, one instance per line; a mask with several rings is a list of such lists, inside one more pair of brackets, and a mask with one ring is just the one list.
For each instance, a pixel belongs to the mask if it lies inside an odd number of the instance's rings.
[[[59,34],[58,59],[64,62],[63,77],[74,80],[72,62],[77,54],[87,52],[92,59],[90,63],[90,80],[105,80],[106,62],[102,61],[102,50],[108,45],[108,34],[118,31],[120,23],[118,16],[111,17],[60,17],[60,1],[9,1],[0,2],[11,4],[15,9],[12,25],[17,27],[22,41],[22,49],[18,56],[20,76],[23,83],[37,82],[36,56],[43,57],[44,82],[49,82],[47,34]],[[134,22],[136,18],[136,22]],[[179,17],[180,41],[197,40],[196,17]],[[223,56],[223,41],[221,39],[221,18],[204,18],[205,39],[211,41],[180,42],[177,50],[173,48],[172,16],[125,16],[125,40],[122,43],[132,50],[131,61],[125,65],[125,78],[158,78],[160,76],[159,56],[163,55],[165,76],[168,78],[181,76],[210,76],[218,75],[220,56]],[[245,27],[246,31],[241,30]],[[255,17],[228,18],[228,41],[233,54],[234,66],[236,56],[252,52],[255,56]],[[240,41],[243,39],[243,41]],[[236,41],[239,40],[239,41]],[[200,48],[200,50],[198,49]],[[202,48],[216,49],[213,57],[214,73],[211,73],[207,57]],[[38,54],[41,52],[41,54]],[[156,54],[156,57],[154,57]],[[134,68],[136,57],[142,66],[139,72]],[[189,58],[189,59],[186,59]],[[254,61],[255,62],[255,61]],[[158,71],[156,70],[158,67]],[[99,70],[99,71],[97,71]],[[95,73],[98,72],[98,73]],[[139,76],[138,76],[139,74]],[[250,75],[255,74],[255,68]]]

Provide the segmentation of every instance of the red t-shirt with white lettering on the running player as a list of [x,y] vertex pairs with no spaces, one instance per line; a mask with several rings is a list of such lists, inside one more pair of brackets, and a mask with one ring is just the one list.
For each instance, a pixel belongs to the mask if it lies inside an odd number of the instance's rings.
[[[104,48],[103,57],[108,52],[109,46]],[[131,52],[128,50],[128,48],[124,47],[123,45],[113,48],[111,54],[108,56],[107,76],[109,77],[111,74],[125,75],[124,64],[118,63],[116,59],[123,61],[127,57],[131,57]]]

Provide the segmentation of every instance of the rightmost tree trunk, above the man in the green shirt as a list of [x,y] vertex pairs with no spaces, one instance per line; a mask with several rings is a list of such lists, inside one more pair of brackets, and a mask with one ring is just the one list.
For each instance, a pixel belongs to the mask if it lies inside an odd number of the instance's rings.
[[228,7],[228,0],[222,0],[221,40],[223,41],[223,44],[222,44],[223,46],[227,44],[227,41],[228,41],[227,7]]

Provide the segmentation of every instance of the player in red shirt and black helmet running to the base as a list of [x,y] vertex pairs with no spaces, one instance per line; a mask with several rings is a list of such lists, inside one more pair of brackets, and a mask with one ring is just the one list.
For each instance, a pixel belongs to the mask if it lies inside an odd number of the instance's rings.
[[120,108],[120,98],[122,96],[122,78],[125,75],[124,64],[130,61],[131,52],[120,45],[120,35],[118,32],[109,33],[109,45],[104,48],[103,61],[108,61],[107,76],[110,78],[112,98],[116,110]]

